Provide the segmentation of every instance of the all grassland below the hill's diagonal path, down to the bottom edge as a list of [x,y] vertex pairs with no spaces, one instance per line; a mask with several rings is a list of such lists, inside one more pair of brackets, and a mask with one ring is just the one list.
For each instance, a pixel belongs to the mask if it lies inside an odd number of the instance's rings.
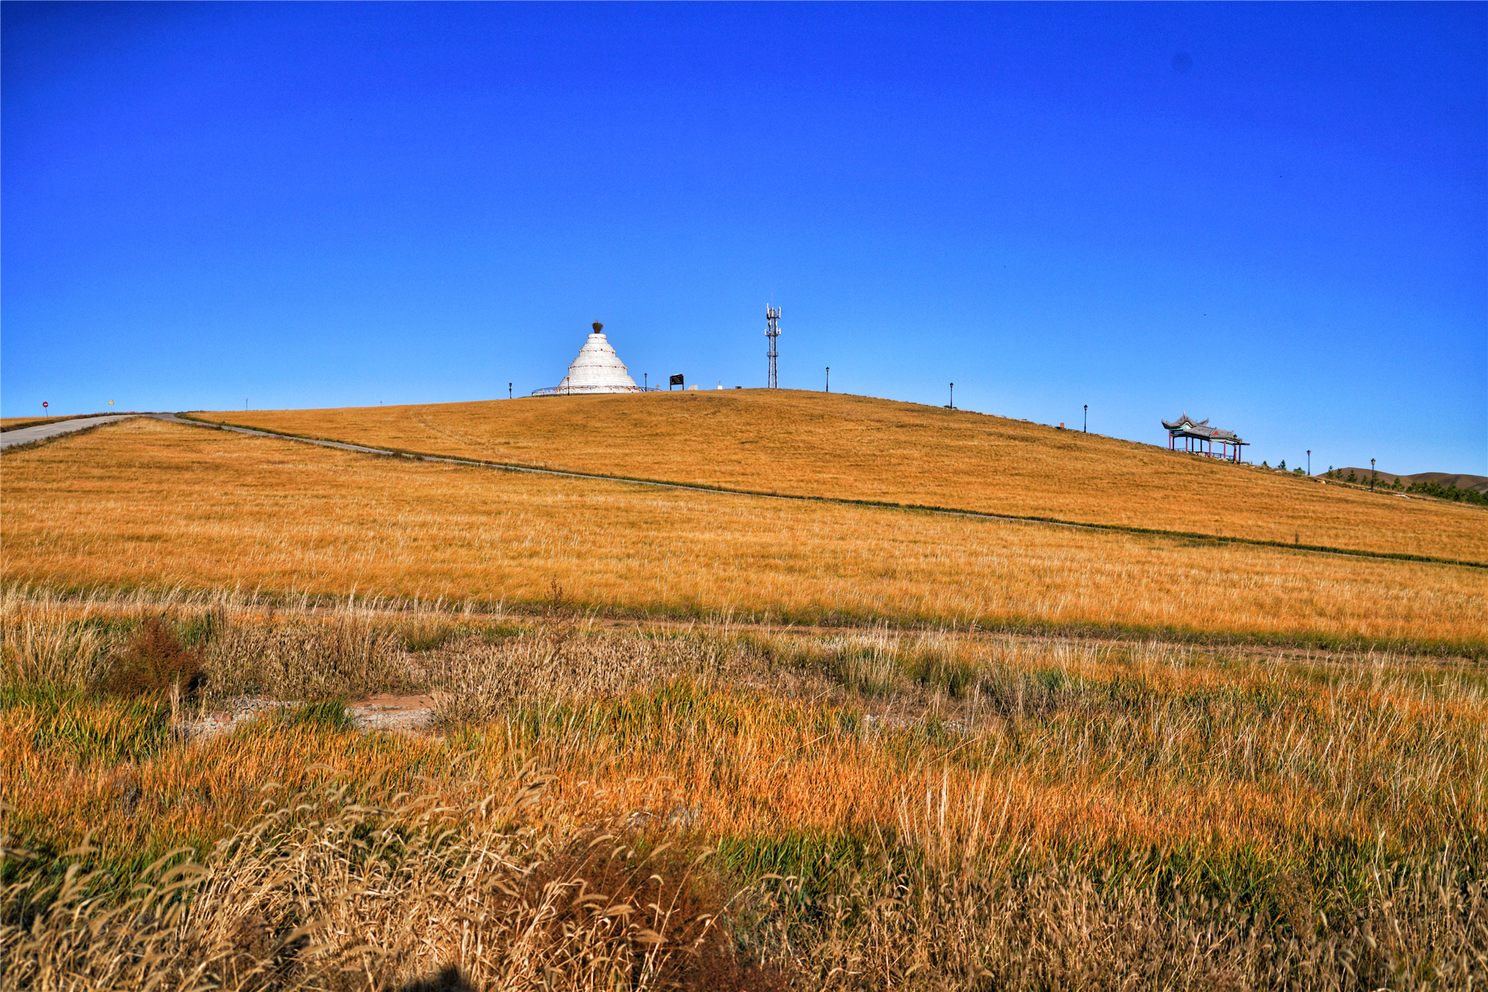
[[1488,983],[1481,568],[149,419],[0,473],[7,988]]

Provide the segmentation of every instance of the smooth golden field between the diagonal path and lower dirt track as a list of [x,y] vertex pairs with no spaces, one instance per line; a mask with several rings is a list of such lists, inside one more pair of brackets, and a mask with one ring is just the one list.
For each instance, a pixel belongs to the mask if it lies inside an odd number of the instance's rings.
[[1481,645],[1488,573],[353,455],[131,421],[4,457],[3,576],[612,613]]

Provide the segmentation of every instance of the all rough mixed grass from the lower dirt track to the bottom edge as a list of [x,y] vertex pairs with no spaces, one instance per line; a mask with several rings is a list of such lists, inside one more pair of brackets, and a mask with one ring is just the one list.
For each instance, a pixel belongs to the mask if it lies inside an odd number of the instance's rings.
[[[1470,665],[201,599],[195,705],[330,702],[193,741],[106,689],[158,604],[0,616],[22,988],[1488,980]],[[387,689],[439,733],[333,718]]]

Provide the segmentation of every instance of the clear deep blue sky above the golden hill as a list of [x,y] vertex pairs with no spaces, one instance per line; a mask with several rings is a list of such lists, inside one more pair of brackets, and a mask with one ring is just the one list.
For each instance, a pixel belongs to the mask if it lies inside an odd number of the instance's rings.
[[0,408],[637,379],[1488,474],[1485,4],[0,6]]

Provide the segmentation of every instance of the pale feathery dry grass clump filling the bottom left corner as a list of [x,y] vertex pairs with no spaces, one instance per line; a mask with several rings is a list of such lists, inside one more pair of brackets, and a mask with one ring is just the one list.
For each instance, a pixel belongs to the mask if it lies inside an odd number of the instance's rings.
[[[109,879],[22,866],[4,892],[12,988],[765,988],[684,857],[534,822],[540,787],[449,809],[295,796],[205,866]],[[7,857],[25,857],[7,851]],[[693,855],[696,857],[696,855]],[[722,982],[722,985],[720,985]]]

